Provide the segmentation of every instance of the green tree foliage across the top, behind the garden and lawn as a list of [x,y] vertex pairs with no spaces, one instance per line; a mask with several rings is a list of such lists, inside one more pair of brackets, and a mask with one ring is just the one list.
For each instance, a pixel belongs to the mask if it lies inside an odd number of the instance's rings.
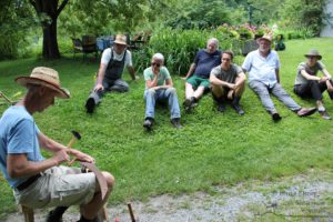
[[[213,30],[251,22],[276,23],[289,39],[304,38],[319,34],[327,17],[324,4],[325,0],[70,0],[58,19],[58,37],[62,47],[61,41],[70,44],[70,38],[83,34],[158,34],[170,28]],[[2,0],[0,6],[0,60],[36,54],[33,46],[42,40],[40,21],[48,18],[38,18],[28,0]],[[68,52],[67,47],[60,50]]]

